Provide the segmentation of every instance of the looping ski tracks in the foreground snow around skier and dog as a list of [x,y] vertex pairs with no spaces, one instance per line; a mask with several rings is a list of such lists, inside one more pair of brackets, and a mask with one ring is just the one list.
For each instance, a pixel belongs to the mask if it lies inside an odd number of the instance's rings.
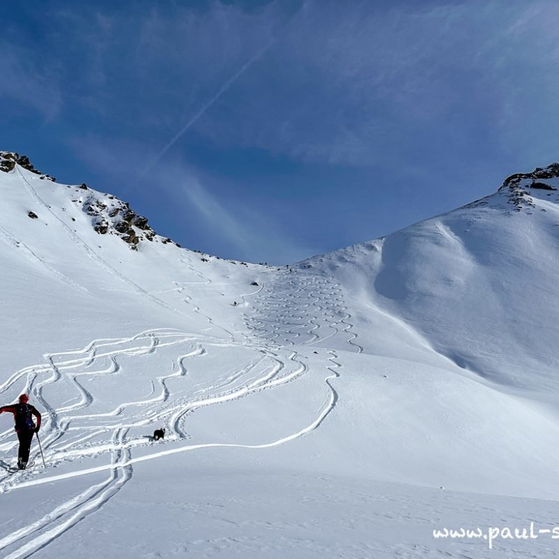
[[[42,518],[0,539],[0,551],[8,553],[6,555],[7,558],[19,559],[31,556],[52,542],[53,539],[66,532],[66,530],[71,529],[80,520],[98,510],[113,495],[118,493],[122,486],[126,484],[126,481],[131,479],[133,464],[138,461],[152,460],[170,453],[196,451],[197,449],[208,447],[242,447],[247,449],[275,447],[316,429],[335,406],[337,394],[331,385],[331,379],[337,376],[334,373],[333,375],[328,375],[325,379],[331,395],[322,407],[321,412],[319,412],[319,416],[310,425],[301,428],[296,433],[271,442],[263,442],[262,444],[244,445],[211,442],[187,444],[178,448],[152,452],[147,456],[133,458],[131,456],[132,449],[146,444],[145,440],[128,436],[129,430],[133,427],[147,425],[155,420],[166,418],[165,422],[169,430],[168,438],[177,441],[186,440],[187,435],[184,433],[181,425],[185,414],[192,413],[200,407],[236,400],[256,391],[272,389],[276,386],[293,382],[307,372],[307,365],[303,363],[296,351],[292,351],[288,358],[282,358],[277,351],[272,349],[255,348],[253,351],[256,355],[252,361],[231,372],[220,382],[211,386],[196,385],[196,391],[192,391],[191,398],[186,398],[183,401],[170,401],[168,380],[172,377],[186,377],[189,374],[186,365],[189,360],[204,356],[206,352],[211,351],[212,346],[224,344],[224,342],[219,342],[219,340],[197,340],[194,350],[177,358],[177,366],[174,367],[170,375],[157,377],[154,384],[155,386],[159,385],[159,390],[155,391],[154,398],[141,402],[128,402],[106,414],[108,419],[115,420],[112,423],[112,428],[108,426],[112,430],[110,442],[107,444],[93,444],[92,447],[87,446],[89,436],[96,437],[96,435],[106,431],[100,428],[99,425],[95,425],[91,426],[91,433],[73,441],[73,448],[64,448],[64,446],[59,445],[59,442],[63,440],[63,435],[69,433],[73,421],[88,419],[88,414],[83,412],[87,412],[87,408],[92,405],[94,398],[78,380],[80,375],[86,374],[85,370],[87,368],[89,368],[88,375],[92,375],[92,373],[96,375],[119,374],[118,356],[120,354],[146,354],[185,338],[191,341],[191,336],[184,333],[176,331],[151,331],[123,340],[95,340],[81,350],[45,356],[48,361],[47,364],[26,368],[20,371],[19,375],[13,375],[10,381],[1,386],[0,392],[5,392],[13,384],[19,382],[24,375],[27,375],[26,382],[31,393],[33,393],[36,400],[41,402],[41,405],[46,410],[45,430],[43,430],[46,436],[43,436],[43,450],[45,451],[45,459],[50,465],[59,460],[75,460],[75,458],[84,458],[85,456],[97,456],[103,452],[110,453],[111,457],[110,464],[108,465],[86,470],[76,470],[59,476],[36,477],[36,472],[29,470],[29,472],[14,474],[9,479],[0,479],[0,491],[4,492],[36,484],[50,484],[59,479],[68,479],[69,477],[82,476],[102,470],[107,470],[109,474],[108,479],[101,484],[87,488],[82,493],[62,502]],[[119,345],[122,344],[126,346],[125,349],[119,348]],[[101,367],[96,372],[92,371],[92,367],[101,358],[109,358],[110,365],[105,368]],[[73,383],[75,391],[79,395],[78,401],[58,409],[51,407],[48,399],[43,397],[43,391],[45,387],[52,386],[57,382]],[[131,421],[118,421],[119,415],[122,414],[122,409],[125,407],[145,405],[150,402],[158,402],[159,411],[157,414],[147,417],[133,417]],[[165,407],[165,402],[169,402],[167,407]],[[101,417],[99,414],[91,414],[89,419],[99,420]],[[84,432],[83,427],[81,431],[82,433]],[[13,444],[13,447],[15,447],[15,444]],[[10,449],[10,451],[13,451],[13,449]],[[17,549],[14,549],[16,545]]]

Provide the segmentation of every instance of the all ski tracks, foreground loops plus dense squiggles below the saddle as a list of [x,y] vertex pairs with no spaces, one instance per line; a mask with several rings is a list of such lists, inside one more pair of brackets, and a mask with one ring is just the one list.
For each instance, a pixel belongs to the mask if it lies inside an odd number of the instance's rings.
[[[200,284],[211,283],[194,266],[187,265],[200,277]],[[191,297],[184,293],[187,285],[187,282],[175,282],[177,293],[192,305],[195,312],[205,317],[208,324],[222,328],[215,324],[212,317],[201,312]],[[228,335],[227,340],[174,328],[158,328],[132,337],[93,340],[81,349],[45,354],[45,363],[23,368],[0,384],[0,394],[23,385],[24,391],[31,393],[33,400],[45,410],[41,441],[48,467],[62,463],[75,465],[85,458],[110,456],[110,463],[82,469],[78,467],[71,472],[48,477],[38,475],[41,459],[36,456],[37,466],[34,469],[0,477],[0,493],[4,493],[94,472],[108,472],[105,481],[87,487],[58,504],[48,514],[1,537],[0,551],[8,553],[6,558],[20,559],[33,555],[99,510],[131,479],[135,463],[210,447],[266,449],[286,444],[319,428],[335,408],[338,398],[332,381],[340,376],[338,371],[342,363],[333,350],[328,350],[331,365],[326,368],[324,378],[328,396],[316,419],[307,426],[261,444],[185,444],[189,435],[184,430],[184,419],[196,409],[245,398],[259,391],[296,382],[305,375],[308,365],[294,346],[312,346],[333,336],[344,335],[351,349],[363,351],[354,341],[356,335],[350,332],[353,327],[348,321],[351,315],[343,305],[339,284],[323,277],[305,275],[297,280],[290,278],[286,284],[278,281],[271,287],[262,285],[254,293],[246,293],[240,298],[247,304],[246,298],[250,296],[256,298],[263,314],[245,314],[247,331],[238,334],[240,340],[235,340],[235,335],[226,328],[222,330]],[[298,299],[296,304],[293,304],[293,298]],[[272,319],[267,319],[266,315]],[[190,370],[196,359],[217,354],[216,349],[235,348],[248,351],[252,357],[222,376],[206,378],[201,382],[191,379]],[[98,409],[92,379],[123,375],[126,372],[124,369],[129,367],[122,364],[126,358],[142,359],[166,349],[172,350],[175,356],[171,370],[150,380],[147,397],[120,402],[111,409]],[[177,390],[176,383],[181,380],[184,384]],[[65,393],[64,402],[58,407],[51,404],[49,397],[57,386],[62,386],[66,392],[70,389],[73,394],[68,397]],[[154,444],[149,442],[147,435],[132,431],[160,425],[167,429],[164,449],[150,450],[143,456],[133,457],[133,449],[150,449]],[[166,443],[169,442],[175,444],[168,448]],[[13,430],[0,433],[0,450],[5,451],[6,456],[13,456],[16,449]]]

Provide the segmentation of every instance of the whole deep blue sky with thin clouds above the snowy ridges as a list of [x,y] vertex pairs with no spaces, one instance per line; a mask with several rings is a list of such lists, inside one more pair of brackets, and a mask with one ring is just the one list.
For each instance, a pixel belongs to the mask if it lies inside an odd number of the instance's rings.
[[28,1],[0,149],[158,233],[286,263],[559,159],[556,0]]

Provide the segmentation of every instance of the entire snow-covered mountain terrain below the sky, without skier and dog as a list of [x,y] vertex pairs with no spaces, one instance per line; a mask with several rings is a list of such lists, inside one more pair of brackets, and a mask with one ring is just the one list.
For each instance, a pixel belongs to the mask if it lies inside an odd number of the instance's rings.
[[483,557],[433,529],[556,521],[558,168],[282,268],[0,170],[0,398],[46,462],[0,474],[2,556]]

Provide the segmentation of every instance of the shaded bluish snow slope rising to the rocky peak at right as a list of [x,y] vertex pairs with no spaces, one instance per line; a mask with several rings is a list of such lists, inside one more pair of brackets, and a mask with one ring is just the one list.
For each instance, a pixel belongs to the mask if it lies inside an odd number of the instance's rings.
[[357,308],[368,301],[480,377],[556,393],[558,188],[558,164],[512,175],[477,202],[300,267],[339,277]]

